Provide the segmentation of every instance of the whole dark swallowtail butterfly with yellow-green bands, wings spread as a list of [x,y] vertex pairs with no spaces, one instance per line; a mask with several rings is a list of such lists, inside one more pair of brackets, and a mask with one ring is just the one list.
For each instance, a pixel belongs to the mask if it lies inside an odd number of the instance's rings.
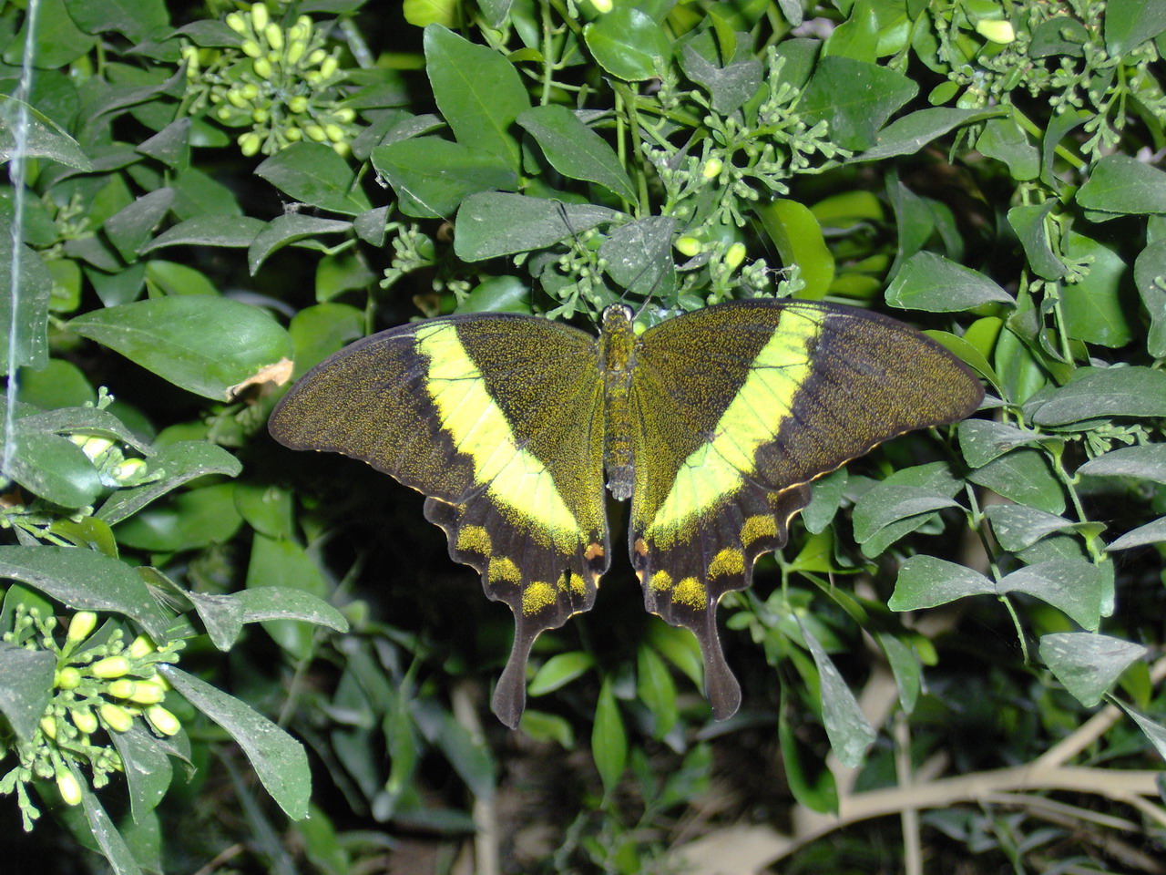
[[611,564],[606,488],[631,498],[645,607],[701,645],[714,716],[740,687],[716,607],[785,546],[810,482],[876,444],[963,419],[984,392],[929,337],[849,307],[757,299],[595,337],[536,316],[442,316],[358,341],[305,374],[268,428],[427,496],[449,554],[514,614],[493,710],[518,726],[535,637],[589,610]]

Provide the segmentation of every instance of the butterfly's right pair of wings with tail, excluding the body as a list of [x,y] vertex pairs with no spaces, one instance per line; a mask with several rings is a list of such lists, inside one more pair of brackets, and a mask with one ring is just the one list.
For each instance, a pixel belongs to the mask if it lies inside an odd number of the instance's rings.
[[649,611],[701,644],[714,715],[740,690],[716,606],[785,546],[809,482],[890,438],[970,415],[971,371],[915,329],[848,307],[744,301],[645,332],[632,379],[632,565]]

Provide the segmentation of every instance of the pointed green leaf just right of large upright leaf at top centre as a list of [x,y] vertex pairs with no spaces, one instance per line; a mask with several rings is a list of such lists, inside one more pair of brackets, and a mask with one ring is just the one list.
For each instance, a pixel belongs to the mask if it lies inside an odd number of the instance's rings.
[[518,124],[563,176],[593,182],[624,201],[635,201],[635,189],[614,149],[566,106],[535,106],[519,114]]

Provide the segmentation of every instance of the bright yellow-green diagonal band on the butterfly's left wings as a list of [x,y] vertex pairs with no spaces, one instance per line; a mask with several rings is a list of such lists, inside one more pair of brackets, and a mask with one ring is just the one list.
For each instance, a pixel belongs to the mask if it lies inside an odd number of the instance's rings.
[[504,510],[535,523],[556,545],[577,544],[581,531],[547,467],[519,447],[510,422],[490,397],[482,372],[449,322],[423,326],[417,351],[429,360],[426,391],[458,453],[473,460],[473,477]]

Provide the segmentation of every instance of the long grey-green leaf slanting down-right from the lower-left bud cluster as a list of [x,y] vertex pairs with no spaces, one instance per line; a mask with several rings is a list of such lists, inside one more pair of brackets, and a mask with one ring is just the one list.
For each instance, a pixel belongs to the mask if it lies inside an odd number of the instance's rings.
[[173,665],[161,667],[187,701],[243,748],[267,792],[293,820],[308,814],[311,772],[303,746],[250,706]]

